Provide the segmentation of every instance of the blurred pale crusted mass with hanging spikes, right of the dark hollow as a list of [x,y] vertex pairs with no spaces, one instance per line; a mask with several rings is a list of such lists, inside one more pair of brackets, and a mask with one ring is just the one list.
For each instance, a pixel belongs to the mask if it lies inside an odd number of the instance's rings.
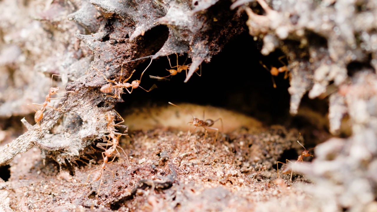
[[376,2],[268,3],[238,0],[232,8],[247,12],[250,34],[264,41],[262,54],[280,48],[287,55],[291,114],[308,91],[309,98],[330,95],[329,131],[339,134],[346,115],[352,128],[350,138],[320,144],[313,167],[299,166],[316,181],[311,193],[323,211],[374,210]]

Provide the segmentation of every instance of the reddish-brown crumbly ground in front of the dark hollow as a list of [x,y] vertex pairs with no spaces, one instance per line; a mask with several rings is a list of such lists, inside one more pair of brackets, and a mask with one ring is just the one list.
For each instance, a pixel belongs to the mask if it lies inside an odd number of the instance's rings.
[[[177,118],[183,115],[172,112]],[[200,130],[190,140],[187,131],[167,127],[131,131],[130,138],[121,140],[129,163],[122,154],[107,164],[115,176],[104,171],[98,194],[100,181],[89,186],[84,183],[88,173],[101,166],[99,154],[86,160],[88,164],[78,161],[79,166],[63,166],[59,171],[53,160],[43,165],[40,150],[33,148],[12,161],[11,178],[1,183],[1,191],[9,192],[10,207],[20,211],[279,211],[287,205],[295,210],[308,207],[310,195],[303,183],[309,181],[302,175],[294,175],[291,187],[273,183],[277,177],[274,166],[284,150],[300,150],[298,131],[282,126],[265,129],[258,121],[254,123],[259,128],[239,126],[220,133],[216,142],[211,131],[205,140]],[[224,125],[227,128],[227,122]],[[283,178],[289,182],[289,176]]]

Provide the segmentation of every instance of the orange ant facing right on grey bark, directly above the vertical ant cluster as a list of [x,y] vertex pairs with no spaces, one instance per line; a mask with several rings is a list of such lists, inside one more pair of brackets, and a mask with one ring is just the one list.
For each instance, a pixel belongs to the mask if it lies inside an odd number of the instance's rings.
[[[136,70],[133,70],[130,77],[123,80],[123,82],[121,82],[122,81],[122,73],[123,73],[123,64],[122,64],[119,82],[116,82],[116,81],[113,81],[113,80],[108,80],[105,77],[105,75],[103,75],[100,71],[97,70],[103,76],[103,78],[105,78],[105,80],[115,84],[115,85],[112,85],[111,83],[105,84],[104,86],[101,87],[101,92],[110,93],[110,92],[112,92],[112,88],[115,88],[114,95],[110,96],[110,97],[120,98],[120,95],[123,94],[123,88],[126,88],[126,90],[129,94],[132,93],[133,89],[138,88],[138,87],[140,87],[141,89],[143,89],[146,92],[152,91],[153,89],[157,88],[156,84],[153,84],[152,87],[149,90],[146,90],[146,89],[142,88],[141,86],[139,86],[140,81],[141,81],[141,77],[143,77],[144,72],[149,68],[150,64],[152,64],[152,59],[150,60],[150,63],[147,66],[147,68],[144,69],[144,71],[141,73],[140,80],[133,80],[131,83],[127,83],[127,81],[132,77],[133,72],[135,72]],[[128,90],[128,88],[130,88],[130,87],[132,87],[131,91]]]

